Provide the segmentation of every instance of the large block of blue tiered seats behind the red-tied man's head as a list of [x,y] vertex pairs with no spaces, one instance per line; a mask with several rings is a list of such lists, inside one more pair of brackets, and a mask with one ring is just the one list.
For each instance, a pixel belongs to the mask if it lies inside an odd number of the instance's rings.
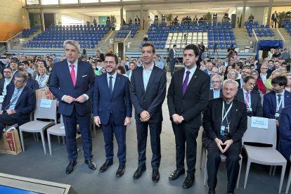
[[51,26],[23,46],[61,48],[63,41],[73,39],[78,41],[82,48],[95,48],[95,45],[110,30],[110,27],[110,25]]

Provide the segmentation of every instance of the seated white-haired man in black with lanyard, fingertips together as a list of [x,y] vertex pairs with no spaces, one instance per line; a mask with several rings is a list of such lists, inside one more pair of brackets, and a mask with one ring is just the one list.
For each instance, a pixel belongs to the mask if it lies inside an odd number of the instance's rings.
[[224,97],[209,100],[203,113],[202,143],[207,149],[209,194],[215,193],[221,153],[226,155],[228,193],[233,193],[238,179],[242,138],[247,129],[247,108],[245,103],[235,99],[237,91],[238,82],[226,79],[222,89]]

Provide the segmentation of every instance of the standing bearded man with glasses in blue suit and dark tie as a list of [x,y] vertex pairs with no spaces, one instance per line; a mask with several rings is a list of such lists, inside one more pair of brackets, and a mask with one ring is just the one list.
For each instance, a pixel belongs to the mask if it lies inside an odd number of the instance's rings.
[[100,172],[105,172],[113,164],[113,134],[118,144],[119,167],[116,177],[124,174],[126,162],[126,131],[131,123],[132,105],[129,93],[129,79],[117,74],[118,58],[112,53],[105,55],[105,70],[96,77],[93,93],[94,122],[102,128],[105,141],[106,161]]

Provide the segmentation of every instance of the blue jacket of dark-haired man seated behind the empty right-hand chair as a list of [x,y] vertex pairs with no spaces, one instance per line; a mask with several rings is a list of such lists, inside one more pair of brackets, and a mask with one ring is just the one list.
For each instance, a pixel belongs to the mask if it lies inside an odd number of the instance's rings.
[[[276,119],[276,93],[270,91],[264,94],[263,102],[263,115],[269,119]],[[291,93],[289,91],[284,92],[284,107],[291,105]]]

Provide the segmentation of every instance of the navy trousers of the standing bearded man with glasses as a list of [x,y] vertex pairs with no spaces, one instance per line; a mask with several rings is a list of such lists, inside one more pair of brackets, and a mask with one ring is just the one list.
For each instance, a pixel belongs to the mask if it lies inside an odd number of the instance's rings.
[[115,135],[118,151],[117,157],[119,159],[119,164],[125,164],[127,161],[127,144],[126,144],[126,132],[127,127],[124,125],[116,125],[112,115],[110,115],[108,124],[102,125],[103,137],[105,142],[105,154],[106,160],[112,161],[113,160],[113,134]]

